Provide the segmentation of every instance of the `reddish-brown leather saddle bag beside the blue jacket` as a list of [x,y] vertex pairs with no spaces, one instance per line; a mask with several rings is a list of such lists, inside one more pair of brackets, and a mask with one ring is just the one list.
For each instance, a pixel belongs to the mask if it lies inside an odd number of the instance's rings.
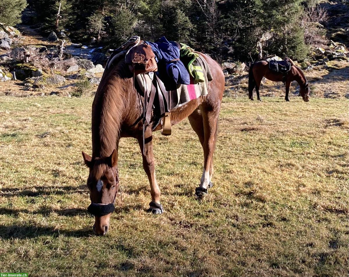
[[145,43],[138,44],[128,51],[126,63],[135,75],[157,71],[155,54],[151,46]]

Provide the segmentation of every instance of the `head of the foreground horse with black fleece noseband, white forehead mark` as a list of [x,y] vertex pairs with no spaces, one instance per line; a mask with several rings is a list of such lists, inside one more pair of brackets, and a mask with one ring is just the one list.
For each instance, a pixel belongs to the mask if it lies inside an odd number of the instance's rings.
[[84,152],[82,157],[90,169],[87,186],[90,190],[91,205],[88,212],[95,216],[93,230],[97,235],[105,235],[109,229],[110,215],[114,211],[114,201],[119,189],[117,151],[109,157],[93,158]]

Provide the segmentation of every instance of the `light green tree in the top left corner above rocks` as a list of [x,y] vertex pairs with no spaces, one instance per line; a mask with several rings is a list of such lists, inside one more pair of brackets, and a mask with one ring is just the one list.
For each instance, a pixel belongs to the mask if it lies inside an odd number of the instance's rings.
[[0,22],[10,26],[21,23],[22,11],[27,5],[26,0],[2,0]]

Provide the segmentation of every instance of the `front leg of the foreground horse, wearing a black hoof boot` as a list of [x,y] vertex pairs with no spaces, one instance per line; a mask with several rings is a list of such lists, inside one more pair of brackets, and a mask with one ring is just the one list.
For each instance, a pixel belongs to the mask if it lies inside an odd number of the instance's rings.
[[149,209],[147,212],[152,212],[153,214],[163,213],[162,205],[160,204],[160,189],[157,185],[155,177],[155,163],[154,163],[154,154],[153,154],[153,136],[151,131],[149,134],[144,135],[144,151],[143,151],[143,137],[138,139],[139,146],[141,148],[142,157],[143,157],[143,168],[147,173],[149,183],[150,183],[150,194],[151,202],[149,203]]

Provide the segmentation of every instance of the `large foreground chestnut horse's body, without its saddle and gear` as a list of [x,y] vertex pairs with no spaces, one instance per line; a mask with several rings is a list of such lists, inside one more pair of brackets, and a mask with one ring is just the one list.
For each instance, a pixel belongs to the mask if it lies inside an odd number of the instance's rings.
[[[171,110],[171,125],[188,117],[202,145],[203,173],[200,187],[196,188],[199,194],[207,193],[208,187],[211,186],[213,152],[225,82],[221,67],[210,57],[201,55],[206,59],[213,76],[213,80],[208,84],[207,96],[191,100]],[[143,168],[150,183],[151,202],[148,212],[163,212],[155,177],[153,123],[146,127],[143,148],[143,122],[138,120],[143,112],[143,97],[134,88],[132,77],[133,74],[123,59],[110,70],[106,69],[92,104],[92,156],[84,152],[82,156],[89,168],[87,186],[91,205],[88,210],[95,215],[93,229],[97,235],[107,233],[110,215],[114,210],[119,187],[118,145],[121,137],[133,137],[138,140]],[[160,130],[161,127],[157,126],[154,131]]]

